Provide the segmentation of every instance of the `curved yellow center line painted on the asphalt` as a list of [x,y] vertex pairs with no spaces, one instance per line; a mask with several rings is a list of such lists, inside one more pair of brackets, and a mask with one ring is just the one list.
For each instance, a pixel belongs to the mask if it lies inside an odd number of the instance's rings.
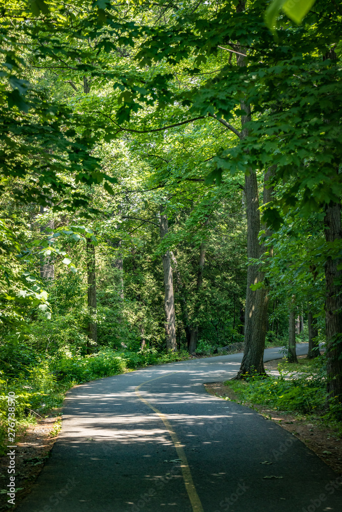
[[152,411],[154,411],[159,416],[159,418],[163,421],[164,425],[166,426],[166,428],[171,436],[172,442],[175,446],[178,458],[182,460],[182,464],[180,465],[180,467],[182,468],[182,475],[183,475],[185,487],[187,489],[187,493],[188,493],[188,496],[190,499],[192,510],[193,510],[193,512],[204,512],[202,503],[199,500],[199,497],[198,497],[198,494],[196,491],[196,487],[192,480],[187,456],[185,455],[185,451],[183,450],[182,444],[180,444],[177,434],[172,429],[170,421],[168,420],[168,418],[165,414],[160,412],[156,407],[152,406],[152,404],[150,402],[145,400],[145,398],[143,398],[142,395],[140,395],[140,393],[138,391],[141,386],[144,386],[148,382],[152,382],[152,380],[161,379],[162,377],[166,377],[167,375],[171,375],[172,373],[175,373],[175,372],[167,373],[165,375],[161,375],[160,377],[156,377],[154,379],[150,379],[150,380],[146,380],[145,382],[142,382],[141,384],[139,384],[139,386],[137,386],[135,388],[135,393],[137,394],[139,400],[144,402],[147,405],[147,407],[152,409]]

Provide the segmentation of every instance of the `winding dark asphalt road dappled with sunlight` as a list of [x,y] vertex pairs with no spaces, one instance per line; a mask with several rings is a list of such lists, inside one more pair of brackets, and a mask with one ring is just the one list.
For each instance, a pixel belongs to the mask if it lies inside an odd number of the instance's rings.
[[[281,356],[265,351],[265,360]],[[70,390],[62,433],[16,511],[340,512],[336,475],[303,443],[205,391],[204,382],[236,374],[241,358],[182,361]]]

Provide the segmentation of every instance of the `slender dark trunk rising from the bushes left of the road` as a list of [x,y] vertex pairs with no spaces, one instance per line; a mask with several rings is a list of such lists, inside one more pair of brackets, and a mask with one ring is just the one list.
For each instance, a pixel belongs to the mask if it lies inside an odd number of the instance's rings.
[[96,315],[96,273],[95,273],[95,247],[87,238],[87,276],[88,276],[88,338],[92,343],[87,344],[87,354],[91,353],[91,345],[97,343],[97,324],[94,322]]

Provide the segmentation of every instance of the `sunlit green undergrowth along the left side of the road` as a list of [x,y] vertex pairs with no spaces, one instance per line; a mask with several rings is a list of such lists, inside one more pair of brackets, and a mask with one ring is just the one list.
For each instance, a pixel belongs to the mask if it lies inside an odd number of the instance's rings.
[[21,434],[27,425],[62,406],[71,387],[102,377],[126,373],[150,365],[189,358],[185,351],[157,353],[115,352],[100,349],[92,355],[75,355],[69,350],[53,356],[34,354],[24,344],[0,348],[0,455],[7,444],[8,393],[15,393],[15,431]]

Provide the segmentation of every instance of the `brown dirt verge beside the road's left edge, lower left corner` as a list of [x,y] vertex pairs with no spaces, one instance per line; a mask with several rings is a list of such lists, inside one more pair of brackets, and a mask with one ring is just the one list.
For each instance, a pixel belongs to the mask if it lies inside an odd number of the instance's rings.
[[[19,434],[16,440],[15,449],[15,505],[7,503],[7,490],[0,493],[0,511],[14,510],[21,500],[30,492],[31,487],[41,472],[45,459],[49,457],[50,451],[57,436],[54,436],[56,430],[56,421],[59,416],[58,410],[54,410],[54,415],[47,418],[39,418],[37,423],[30,425],[25,433]],[[53,437],[54,436],[54,437]],[[0,457],[0,488],[6,489],[9,483],[9,474],[7,473],[9,457],[4,455]]]

